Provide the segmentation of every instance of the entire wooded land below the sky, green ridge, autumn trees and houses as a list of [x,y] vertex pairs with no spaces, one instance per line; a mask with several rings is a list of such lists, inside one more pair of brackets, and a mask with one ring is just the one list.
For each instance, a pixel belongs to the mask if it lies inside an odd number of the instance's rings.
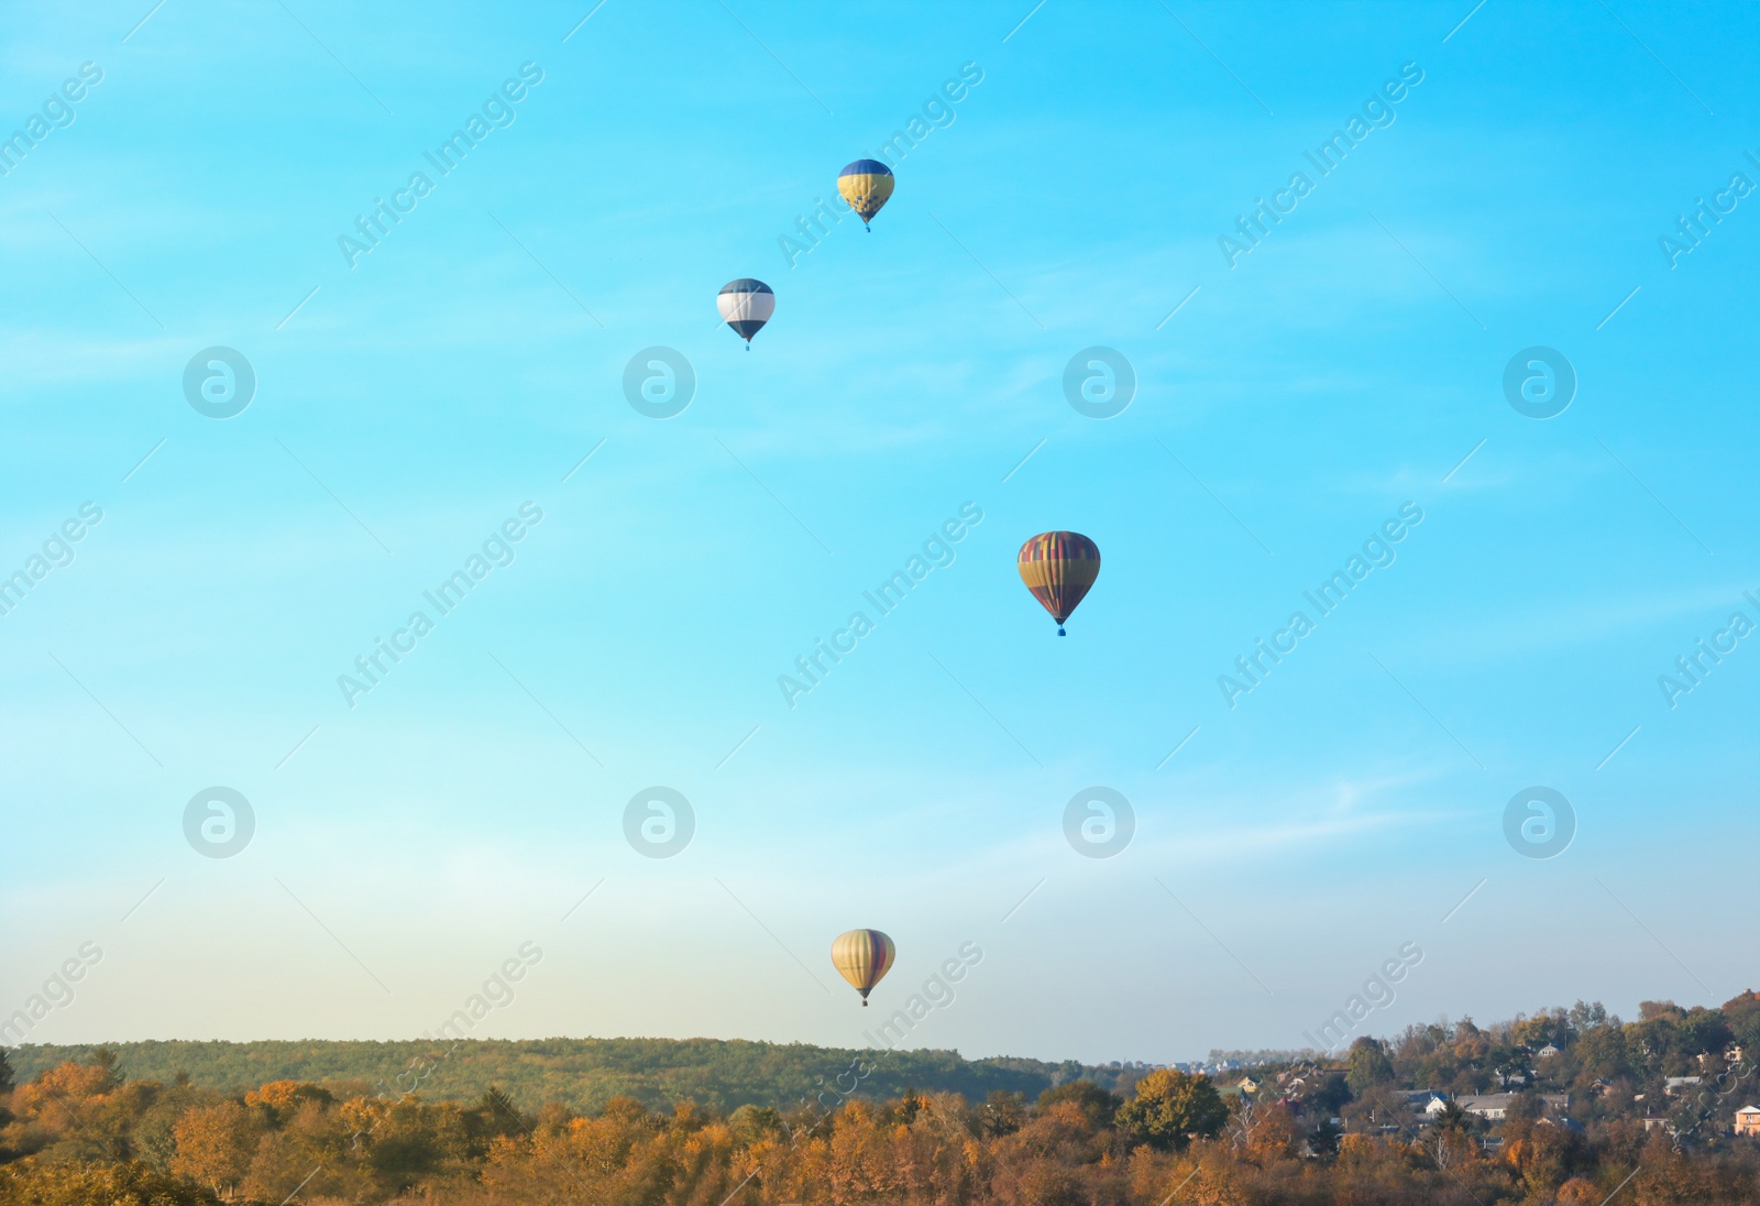
[[[14,1049],[0,1060],[0,1206],[1760,1202],[1760,1136],[1735,1134],[1735,1111],[1760,1097],[1751,991],[1718,1009],[1644,1002],[1635,1021],[1577,1002],[1487,1026],[1408,1026],[1214,1079],[1105,1069],[1111,1085],[1095,1069],[1063,1076],[1081,1065],[929,1051],[706,1041],[412,1051]],[[697,1063],[676,1063],[686,1056]],[[146,1076],[158,1067],[150,1058],[169,1076]],[[417,1076],[440,1062],[491,1079],[468,1095],[447,1081],[442,1093],[429,1090],[442,1083],[435,1067],[415,1090],[375,1088],[400,1058]],[[354,1074],[248,1083],[289,1060]],[[570,1060],[591,1088],[528,1104],[505,1086],[539,1092],[567,1079]],[[741,1076],[762,1093],[734,1088]],[[933,1076],[966,1077],[972,1092]],[[752,1100],[797,1083],[806,1093],[794,1100]],[[665,1088],[681,1085],[713,1093]]]

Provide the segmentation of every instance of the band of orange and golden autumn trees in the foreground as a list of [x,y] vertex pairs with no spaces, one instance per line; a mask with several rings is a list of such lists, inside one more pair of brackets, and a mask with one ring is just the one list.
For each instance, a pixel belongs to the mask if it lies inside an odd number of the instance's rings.
[[[1334,1076],[1338,1076],[1334,1072]],[[1339,1077],[1343,1079],[1343,1077]],[[1348,1097],[1348,1093],[1346,1093]],[[1632,1121],[1584,1132],[1522,1111],[1491,1134],[1336,1130],[1288,1099],[1232,1100],[1158,1070],[1121,1099],[1072,1081],[832,1111],[627,1097],[577,1114],[343,1097],[278,1081],[243,1097],[65,1063],[0,1107],[0,1206],[1623,1206],[1760,1201],[1751,1148],[1683,1148]]]

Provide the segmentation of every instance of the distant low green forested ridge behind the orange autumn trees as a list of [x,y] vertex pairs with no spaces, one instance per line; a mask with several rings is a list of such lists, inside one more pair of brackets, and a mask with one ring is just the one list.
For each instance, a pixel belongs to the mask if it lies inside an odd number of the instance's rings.
[[[11,1049],[19,1079],[65,1063],[86,1063],[97,1046],[25,1044]],[[526,1109],[547,1102],[597,1111],[612,1097],[649,1107],[693,1100],[706,1109],[799,1106],[824,1092],[857,1051],[801,1042],[722,1042],[716,1039],[539,1039],[410,1042],[116,1042],[106,1048],[123,1076],[190,1085],[232,1095],[269,1081],[357,1081],[368,1093],[415,1092],[422,1100],[472,1100],[496,1085]],[[980,1100],[993,1092],[1037,1097],[1077,1077],[1128,1088],[1146,1069],[1086,1067],[1074,1060],[964,1060],[957,1051],[894,1051],[868,1077],[866,1092],[959,1093]]]

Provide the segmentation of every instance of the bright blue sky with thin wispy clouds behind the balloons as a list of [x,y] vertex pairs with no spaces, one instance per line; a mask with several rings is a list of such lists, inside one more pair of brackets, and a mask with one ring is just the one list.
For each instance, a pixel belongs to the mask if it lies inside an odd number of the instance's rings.
[[[852,926],[898,942],[887,1012],[979,944],[913,1035],[966,1055],[1302,1046],[1406,942],[1362,1030],[1751,986],[1760,643],[1674,706],[1658,676],[1760,621],[1760,195],[1660,245],[1760,180],[1755,14],[590,7],[9,23],[0,134],[102,72],[0,178],[0,570],[102,509],[0,616],[0,1009],[104,952],[33,1041],[410,1037],[530,940],[477,1033],[861,1044]],[[963,67],[873,232],[790,264]],[[750,354],[737,276],[778,299]],[[183,394],[216,345],[257,377],[231,419]],[[697,377],[672,419],[623,396],[655,345]],[[1137,375],[1112,419],[1063,394],[1096,345]],[[1552,419],[1503,393],[1529,347],[1577,375]],[[348,706],[523,504],[512,563]],[[1014,570],[1049,528],[1104,555],[1065,639]],[[209,785],[252,805],[234,857],[185,840]],[[674,857],[625,840],[649,785],[695,813]],[[1135,813],[1114,857],[1065,840],[1091,785]],[[1556,857],[1505,838],[1533,785],[1575,813]]]

